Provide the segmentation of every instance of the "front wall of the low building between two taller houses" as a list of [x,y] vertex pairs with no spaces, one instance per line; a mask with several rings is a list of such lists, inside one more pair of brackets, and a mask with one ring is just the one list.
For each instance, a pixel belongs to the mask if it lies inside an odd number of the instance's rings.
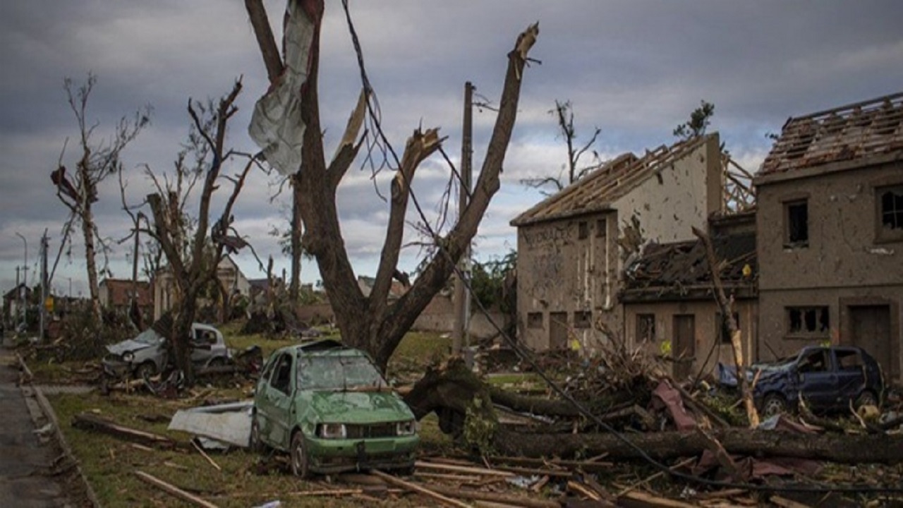
[[[734,312],[740,319],[740,333],[744,346],[743,358],[744,361],[749,362],[750,358],[757,356],[759,304],[756,300],[738,300],[734,303]],[[655,339],[653,341],[647,342],[638,338],[638,315],[655,315]],[[721,342],[718,305],[713,300],[625,304],[624,324],[628,344],[642,347],[649,354],[659,355],[671,352],[675,334],[675,315],[694,316],[695,352],[691,367],[694,375],[701,370],[703,373],[714,373],[718,362],[733,364],[731,343]],[[712,350],[713,344],[715,349],[712,352],[712,358],[706,362],[706,357]],[[672,362],[665,364],[671,367],[674,365]]]

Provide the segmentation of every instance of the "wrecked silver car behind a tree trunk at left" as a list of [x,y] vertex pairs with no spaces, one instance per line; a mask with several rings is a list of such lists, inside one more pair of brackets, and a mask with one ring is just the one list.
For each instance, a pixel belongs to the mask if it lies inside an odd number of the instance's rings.
[[[191,325],[191,362],[198,367],[226,365],[232,358],[223,334],[210,325]],[[149,378],[165,370],[169,358],[166,339],[154,328],[148,328],[134,339],[107,346],[103,359],[104,372],[116,378],[134,375]]]

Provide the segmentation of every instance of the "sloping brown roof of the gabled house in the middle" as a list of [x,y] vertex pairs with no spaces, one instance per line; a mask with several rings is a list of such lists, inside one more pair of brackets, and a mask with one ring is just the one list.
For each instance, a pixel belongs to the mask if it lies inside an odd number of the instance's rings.
[[525,226],[535,222],[608,210],[611,203],[635,189],[640,183],[646,182],[654,174],[661,173],[675,161],[689,155],[712,136],[717,135],[697,136],[672,146],[662,145],[647,151],[643,157],[631,153],[619,155],[581,180],[568,185],[561,192],[549,196],[521,213],[511,221],[511,225]]

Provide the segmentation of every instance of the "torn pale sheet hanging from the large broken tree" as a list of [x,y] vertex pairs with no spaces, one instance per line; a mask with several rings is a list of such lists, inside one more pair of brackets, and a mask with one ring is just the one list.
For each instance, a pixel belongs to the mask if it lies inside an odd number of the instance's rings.
[[289,0],[284,21],[284,71],[257,100],[251,139],[260,146],[266,161],[281,174],[297,173],[301,167],[304,125],[301,118],[302,89],[311,71],[314,35],[320,13],[314,0]]

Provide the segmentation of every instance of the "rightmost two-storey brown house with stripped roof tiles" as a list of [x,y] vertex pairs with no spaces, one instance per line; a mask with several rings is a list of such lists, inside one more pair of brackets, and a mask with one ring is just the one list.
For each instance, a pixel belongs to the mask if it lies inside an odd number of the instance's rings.
[[753,183],[759,354],[854,344],[900,380],[903,93],[789,118]]

